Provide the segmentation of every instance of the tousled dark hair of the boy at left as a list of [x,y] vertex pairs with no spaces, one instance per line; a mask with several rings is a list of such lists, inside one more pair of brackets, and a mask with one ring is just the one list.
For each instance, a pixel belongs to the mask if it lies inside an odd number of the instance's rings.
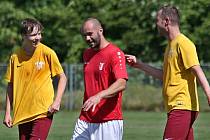
[[43,26],[38,20],[32,18],[26,18],[21,22],[20,33],[22,35],[30,34],[33,32],[35,27],[38,28],[38,31],[43,30]]

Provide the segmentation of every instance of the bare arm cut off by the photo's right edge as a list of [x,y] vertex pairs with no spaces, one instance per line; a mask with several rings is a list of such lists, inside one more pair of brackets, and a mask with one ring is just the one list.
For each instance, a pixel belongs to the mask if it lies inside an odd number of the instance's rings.
[[208,99],[208,104],[210,105],[210,87],[209,87],[209,83],[206,79],[206,76],[203,73],[203,70],[201,69],[201,67],[199,65],[193,66],[190,69],[194,73],[194,75],[197,77],[201,87],[203,88],[203,90],[206,94],[206,97]]

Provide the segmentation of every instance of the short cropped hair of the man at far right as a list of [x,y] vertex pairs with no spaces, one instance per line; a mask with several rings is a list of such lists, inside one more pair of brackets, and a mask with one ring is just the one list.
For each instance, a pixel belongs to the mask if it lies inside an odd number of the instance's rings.
[[169,17],[173,25],[180,24],[179,11],[175,6],[166,5],[161,7],[158,11],[161,12],[160,13],[161,18]]

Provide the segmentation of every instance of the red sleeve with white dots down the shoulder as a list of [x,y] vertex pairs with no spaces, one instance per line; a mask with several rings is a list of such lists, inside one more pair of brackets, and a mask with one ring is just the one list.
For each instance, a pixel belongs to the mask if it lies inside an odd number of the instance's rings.
[[116,50],[112,54],[112,71],[116,79],[124,78],[128,79],[128,74],[126,70],[125,55],[121,50]]

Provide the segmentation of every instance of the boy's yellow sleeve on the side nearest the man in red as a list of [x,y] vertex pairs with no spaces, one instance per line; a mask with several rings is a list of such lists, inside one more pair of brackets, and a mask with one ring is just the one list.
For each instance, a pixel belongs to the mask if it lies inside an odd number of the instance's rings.
[[51,68],[52,77],[63,73],[63,68],[54,51],[52,51],[52,53],[50,54],[50,68]]

